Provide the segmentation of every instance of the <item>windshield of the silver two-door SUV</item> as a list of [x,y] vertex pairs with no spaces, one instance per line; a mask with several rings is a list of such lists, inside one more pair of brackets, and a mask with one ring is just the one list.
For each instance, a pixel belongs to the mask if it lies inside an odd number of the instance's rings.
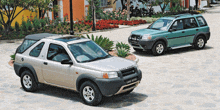
[[79,63],[90,62],[109,57],[102,48],[93,41],[70,44],[69,49]]

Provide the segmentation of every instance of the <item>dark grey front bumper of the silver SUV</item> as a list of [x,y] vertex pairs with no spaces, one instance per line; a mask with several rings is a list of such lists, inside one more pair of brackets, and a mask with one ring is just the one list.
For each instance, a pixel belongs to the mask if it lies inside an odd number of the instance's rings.
[[141,70],[138,70],[135,74],[126,77],[96,79],[96,84],[98,85],[102,95],[112,96],[134,89],[140,83],[141,78],[142,72]]

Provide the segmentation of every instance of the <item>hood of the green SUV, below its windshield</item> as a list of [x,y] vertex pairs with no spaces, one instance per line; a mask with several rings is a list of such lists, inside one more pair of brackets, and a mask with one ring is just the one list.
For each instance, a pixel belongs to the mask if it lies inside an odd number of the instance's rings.
[[154,35],[154,34],[160,34],[160,33],[164,33],[164,32],[165,31],[155,30],[155,29],[140,29],[140,30],[132,31],[131,34],[136,34],[136,35],[150,34],[150,35]]

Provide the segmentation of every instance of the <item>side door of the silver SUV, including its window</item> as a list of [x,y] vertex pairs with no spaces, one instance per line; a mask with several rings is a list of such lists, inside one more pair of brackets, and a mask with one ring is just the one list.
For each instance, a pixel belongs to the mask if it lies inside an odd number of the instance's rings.
[[71,60],[65,48],[61,45],[51,43],[43,62],[44,80],[52,85],[73,88],[74,66],[61,64],[63,60]]

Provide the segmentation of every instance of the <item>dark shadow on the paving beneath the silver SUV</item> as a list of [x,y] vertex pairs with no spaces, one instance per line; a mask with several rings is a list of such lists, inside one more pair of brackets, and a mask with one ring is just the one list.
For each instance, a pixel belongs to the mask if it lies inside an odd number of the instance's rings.
[[[20,89],[23,90],[21,87]],[[23,90],[24,91],[24,90]],[[58,88],[50,85],[40,84],[39,88],[34,94],[44,94],[52,97],[63,98],[66,100],[71,100],[73,102],[83,103],[78,92],[67,90],[63,88]],[[121,108],[136,104],[138,102],[144,101],[148,96],[145,94],[140,94],[132,92],[128,95],[116,95],[112,97],[103,97],[102,102],[97,107],[104,108]]]

